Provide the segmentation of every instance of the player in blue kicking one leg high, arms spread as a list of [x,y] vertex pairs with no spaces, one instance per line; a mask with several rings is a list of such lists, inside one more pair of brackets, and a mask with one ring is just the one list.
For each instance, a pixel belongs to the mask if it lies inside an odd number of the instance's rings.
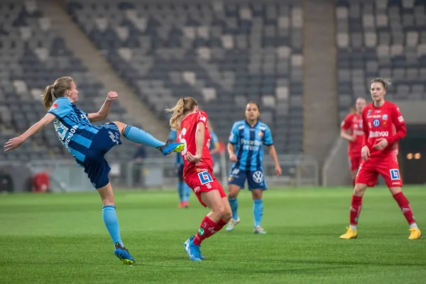
[[133,264],[135,263],[133,257],[121,241],[114,193],[108,178],[111,168],[104,155],[112,147],[121,144],[121,135],[134,143],[157,148],[163,155],[182,151],[184,145],[158,141],[151,134],[120,121],[101,126],[92,124],[94,121],[102,121],[107,117],[111,102],[117,97],[116,92],[109,92],[98,112],[85,114],[73,104],[78,100],[78,91],[72,77],[60,77],[54,84],[46,87],[43,93],[43,105],[48,113],[21,136],[6,142],[4,150],[11,151],[18,148],[28,138],[53,122],[58,138],[75,158],[77,165],[84,168],[84,173],[87,173],[90,182],[102,198],[102,218],[114,243],[114,254],[123,263]]

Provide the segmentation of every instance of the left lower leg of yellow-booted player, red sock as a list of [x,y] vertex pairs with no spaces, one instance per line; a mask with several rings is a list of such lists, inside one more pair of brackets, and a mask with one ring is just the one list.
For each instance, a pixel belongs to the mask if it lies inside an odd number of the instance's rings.
[[361,213],[362,197],[366,192],[367,185],[364,183],[356,183],[354,187],[354,195],[352,195],[351,207],[349,209],[349,227],[340,239],[356,239],[358,236],[356,226],[358,226],[358,218]]

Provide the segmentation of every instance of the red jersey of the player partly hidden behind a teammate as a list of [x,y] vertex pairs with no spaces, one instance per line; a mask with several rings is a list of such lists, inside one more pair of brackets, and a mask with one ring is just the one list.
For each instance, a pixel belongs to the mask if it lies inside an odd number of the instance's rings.
[[362,143],[364,141],[364,131],[362,131],[361,114],[348,114],[340,127],[344,130],[350,130],[350,135],[356,135],[356,140],[349,142],[348,155],[351,157],[361,156]]

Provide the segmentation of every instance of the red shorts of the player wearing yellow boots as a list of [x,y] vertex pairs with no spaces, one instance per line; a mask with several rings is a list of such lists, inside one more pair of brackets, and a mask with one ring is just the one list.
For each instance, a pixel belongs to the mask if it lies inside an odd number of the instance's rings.
[[402,187],[398,160],[394,156],[369,158],[363,160],[356,174],[355,183],[364,183],[368,187],[376,185],[378,175],[381,175],[388,187]]

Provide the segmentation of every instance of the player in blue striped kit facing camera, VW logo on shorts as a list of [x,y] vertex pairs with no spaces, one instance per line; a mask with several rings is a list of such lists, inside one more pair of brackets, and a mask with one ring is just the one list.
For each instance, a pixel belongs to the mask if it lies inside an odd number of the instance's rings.
[[246,119],[236,121],[229,136],[229,160],[233,162],[228,179],[228,199],[232,209],[232,219],[226,231],[232,231],[240,219],[237,213],[238,200],[236,197],[247,180],[253,197],[253,215],[255,234],[266,234],[261,227],[263,217],[263,190],[266,190],[265,175],[263,174],[263,145],[268,147],[269,154],[275,163],[275,173],[281,175],[280,163],[273,146],[271,130],[266,124],[258,121],[260,107],[255,102],[249,102],[246,107]]

